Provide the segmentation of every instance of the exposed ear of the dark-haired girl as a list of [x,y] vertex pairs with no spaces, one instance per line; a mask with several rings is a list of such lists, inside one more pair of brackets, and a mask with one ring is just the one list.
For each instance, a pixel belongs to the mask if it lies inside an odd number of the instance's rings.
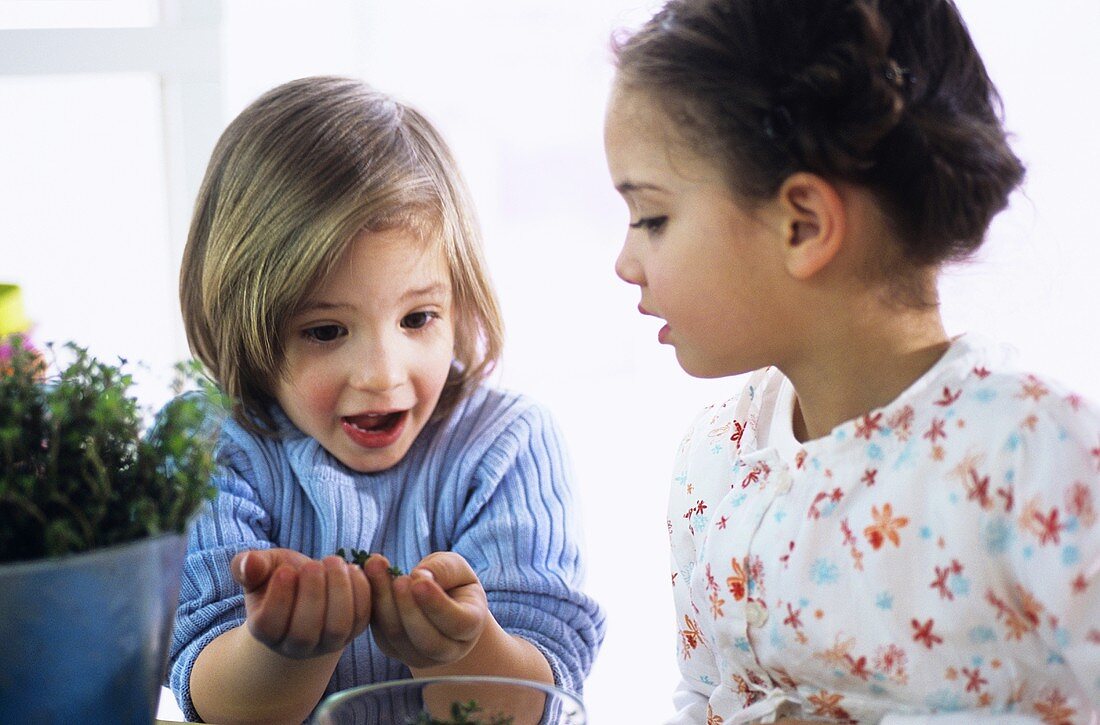
[[809,279],[840,251],[847,231],[844,199],[815,174],[792,174],[779,188],[785,264],[795,279]]

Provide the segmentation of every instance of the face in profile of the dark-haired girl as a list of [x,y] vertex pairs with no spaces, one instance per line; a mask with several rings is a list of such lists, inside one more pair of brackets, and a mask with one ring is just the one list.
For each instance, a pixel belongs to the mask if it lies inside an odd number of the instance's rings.
[[641,91],[616,86],[604,142],[630,213],[615,271],[638,286],[639,311],[664,320],[659,341],[698,377],[771,364],[788,283],[778,216],[737,202],[717,165]]

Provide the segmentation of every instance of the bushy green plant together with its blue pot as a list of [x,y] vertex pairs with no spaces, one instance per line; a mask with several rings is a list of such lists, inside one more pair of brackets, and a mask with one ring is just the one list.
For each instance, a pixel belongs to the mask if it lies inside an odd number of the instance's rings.
[[0,340],[0,723],[155,717],[212,443],[199,396],[146,430],[125,365]]

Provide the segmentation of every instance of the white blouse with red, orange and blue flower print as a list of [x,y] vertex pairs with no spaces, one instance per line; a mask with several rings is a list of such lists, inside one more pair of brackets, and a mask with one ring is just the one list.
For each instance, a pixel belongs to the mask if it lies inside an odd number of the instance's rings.
[[1100,722],[1100,411],[1007,365],[964,336],[806,443],[774,369],[696,419],[674,722]]

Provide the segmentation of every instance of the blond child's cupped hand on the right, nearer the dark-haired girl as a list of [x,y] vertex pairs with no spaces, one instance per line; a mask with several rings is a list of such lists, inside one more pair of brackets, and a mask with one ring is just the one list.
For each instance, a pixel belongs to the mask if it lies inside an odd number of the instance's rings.
[[437,551],[393,576],[385,557],[363,565],[373,594],[371,631],[380,649],[410,668],[450,664],[470,653],[492,616],[485,590],[453,551]]

